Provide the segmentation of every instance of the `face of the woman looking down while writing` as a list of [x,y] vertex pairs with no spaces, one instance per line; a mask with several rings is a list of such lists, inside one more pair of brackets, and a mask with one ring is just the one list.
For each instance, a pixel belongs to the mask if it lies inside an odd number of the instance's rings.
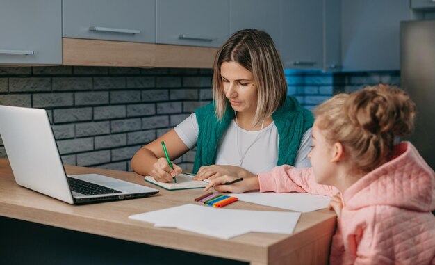
[[222,87],[234,111],[256,113],[258,89],[254,74],[236,62],[220,65]]

